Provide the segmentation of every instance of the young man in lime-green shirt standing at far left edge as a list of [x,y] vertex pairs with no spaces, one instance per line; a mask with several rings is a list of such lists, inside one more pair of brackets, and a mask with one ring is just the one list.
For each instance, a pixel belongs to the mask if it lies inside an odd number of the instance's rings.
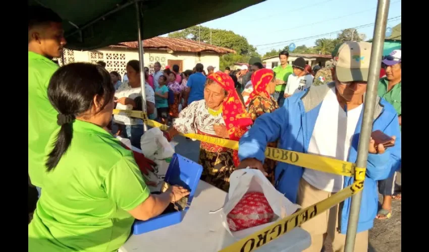
[[43,7],[28,8],[28,174],[43,187],[44,162],[51,134],[58,129],[57,111],[47,98],[47,86],[66,44],[61,18]]

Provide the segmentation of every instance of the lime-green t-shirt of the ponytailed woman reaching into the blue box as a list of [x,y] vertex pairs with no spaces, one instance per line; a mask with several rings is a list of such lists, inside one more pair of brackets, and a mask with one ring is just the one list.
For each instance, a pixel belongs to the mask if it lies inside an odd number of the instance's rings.
[[28,226],[28,251],[116,251],[134,222],[127,211],[150,195],[132,152],[80,120],[73,122],[71,145],[43,184]]

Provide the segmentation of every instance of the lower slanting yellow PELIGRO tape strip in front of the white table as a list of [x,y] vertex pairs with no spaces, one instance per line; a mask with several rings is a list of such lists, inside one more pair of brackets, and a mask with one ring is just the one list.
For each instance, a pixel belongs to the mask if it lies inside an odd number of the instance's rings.
[[340,204],[345,199],[358,193],[363,188],[363,180],[356,180],[352,185],[347,186],[333,196],[320,201],[314,205],[295,212],[294,214],[281,219],[268,227],[265,227],[247,237],[225,247],[219,252],[250,252],[270,241],[279,238],[281,235],[291,231],[302,223],[311,220],[316,215]]

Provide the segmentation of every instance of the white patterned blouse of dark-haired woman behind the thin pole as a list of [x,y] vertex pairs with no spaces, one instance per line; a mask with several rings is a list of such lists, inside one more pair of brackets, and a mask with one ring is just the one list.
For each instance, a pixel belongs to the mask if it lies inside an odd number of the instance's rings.
[[[153,91],[152,87],[147,84],[147,82],[144,85],[144,91],[146,93],[146,101],[155,104],[155,92]],[[118,99],[121,97],[129,97],[131,99],[135,99],[138,96],[141,96],[141,88],[131,88],[128,82],[124,82],[115,92],[115,97]],[[132,110],[133,107],[131,105],[122,105],[120,103],[117,103],[116,109]],[[120,114],[115,114],[113,116],[113,120],[116,123],[125,125],[143,124],[143,120],[140,118],[131,118],[129,116]]]

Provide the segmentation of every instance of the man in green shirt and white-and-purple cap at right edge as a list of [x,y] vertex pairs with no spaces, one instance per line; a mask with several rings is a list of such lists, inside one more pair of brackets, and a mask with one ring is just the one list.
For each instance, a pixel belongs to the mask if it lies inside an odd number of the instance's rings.
[[[386,77],[382,78],[378,86],[378,95],[393,105],[398,113],[399,127],[401,128],[401,81],[402,81],[402,52],[394,50],[383,60]],[[396,172],[389,178],[379,181],[379,192],[383,195],[382,209],[377,213],[377,219],[389,219],[392,216],[392,197],[395,191]],[[398,194],[396,199],[400,199]]]

